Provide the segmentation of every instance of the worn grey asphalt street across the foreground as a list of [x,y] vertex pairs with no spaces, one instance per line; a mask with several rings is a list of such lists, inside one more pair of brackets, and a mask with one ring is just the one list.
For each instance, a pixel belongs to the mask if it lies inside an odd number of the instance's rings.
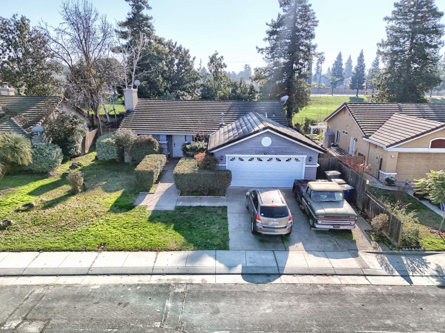
[[354,285],[11,285],[0,332],[445,332],[445,289]]

